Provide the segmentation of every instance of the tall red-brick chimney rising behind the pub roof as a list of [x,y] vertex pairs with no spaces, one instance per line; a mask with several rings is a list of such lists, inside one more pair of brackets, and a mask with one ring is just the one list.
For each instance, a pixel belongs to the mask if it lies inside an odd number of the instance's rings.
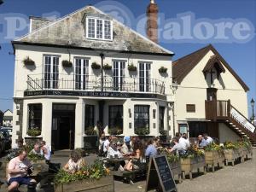
[[158,6],[154,0],[150,0],[147,8],[147,35],[151,41],[158,43]]

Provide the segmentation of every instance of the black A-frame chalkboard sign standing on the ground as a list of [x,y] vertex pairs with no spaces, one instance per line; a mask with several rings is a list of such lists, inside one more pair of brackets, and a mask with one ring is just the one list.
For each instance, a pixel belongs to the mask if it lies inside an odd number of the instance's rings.
[[[158,176],[158,179],[155,179]],[[148,164],[148,177],[146,192],[151,189],[158,189],[163,192],[177,192],[175,181],[166,155],[152,157]]]

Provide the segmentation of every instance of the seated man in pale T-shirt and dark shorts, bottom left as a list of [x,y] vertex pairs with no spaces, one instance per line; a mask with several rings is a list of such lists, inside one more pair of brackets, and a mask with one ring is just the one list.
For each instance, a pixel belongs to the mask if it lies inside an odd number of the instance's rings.
[[36,180],[28,177],[31,173],[32,164],[26,159],[26,151],[19,150],[19,155],[9,161],[8,166],[8,191],[18,190],[21,184],[36,183]]

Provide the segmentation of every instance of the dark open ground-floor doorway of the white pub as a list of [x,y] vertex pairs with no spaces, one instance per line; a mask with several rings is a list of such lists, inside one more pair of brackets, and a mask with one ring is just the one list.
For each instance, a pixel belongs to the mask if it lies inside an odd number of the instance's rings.
[[75,105],[53,104],[51,143],[55,150],[73,149]]

